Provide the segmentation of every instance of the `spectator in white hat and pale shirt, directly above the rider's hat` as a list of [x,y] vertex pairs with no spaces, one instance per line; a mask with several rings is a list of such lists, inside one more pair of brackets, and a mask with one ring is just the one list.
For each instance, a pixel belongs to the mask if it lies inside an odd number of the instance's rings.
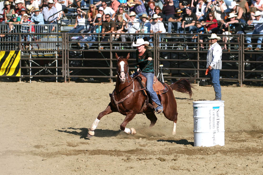
[[135,18],[136,17],[136,13],[134,12],[131,12],[129,14],[130,16],[130,20],[127,20],[127,23],[125,25],[125,30],[127,30],[127,33],[131,33],[130,36],[130,40],[131,41],[134,41],[135,40],[135,37],[132,35],[132,33],[136,33],[137,30],[139,30],[140,28],[140,22],[139,22],[139,19]]

